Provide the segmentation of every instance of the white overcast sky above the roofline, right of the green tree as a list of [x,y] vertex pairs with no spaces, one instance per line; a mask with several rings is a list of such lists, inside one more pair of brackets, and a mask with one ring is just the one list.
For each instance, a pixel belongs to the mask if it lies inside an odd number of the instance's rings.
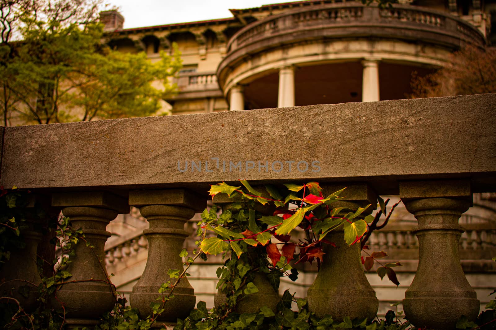
[[287,0],[108,0],[121,8],[124,28],[232,17],[229,9],[258,7]]

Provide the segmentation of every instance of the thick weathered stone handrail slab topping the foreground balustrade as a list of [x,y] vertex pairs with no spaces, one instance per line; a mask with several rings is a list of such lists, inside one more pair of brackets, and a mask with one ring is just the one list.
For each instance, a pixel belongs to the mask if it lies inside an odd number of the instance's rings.
[[7,127],[0,184],[203,192],[240,178],[318,179],[397,194],[397,180],[464,177],[474,191],[494,191],[495,109],[496,94],[480,94]]

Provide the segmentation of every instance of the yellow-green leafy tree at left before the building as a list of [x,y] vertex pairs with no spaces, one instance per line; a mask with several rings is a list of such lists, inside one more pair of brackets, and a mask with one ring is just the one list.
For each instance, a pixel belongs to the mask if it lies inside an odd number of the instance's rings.
[[[12,120],[48,124],[151,115],[176,88],[169,78],[181,68],[177,47],[174,55],[161,53],[151,63],[144,53],[101,45],[100,2],[11,0],[1,6],[5,126]],[[19,38],[12,42],[15,34]]]

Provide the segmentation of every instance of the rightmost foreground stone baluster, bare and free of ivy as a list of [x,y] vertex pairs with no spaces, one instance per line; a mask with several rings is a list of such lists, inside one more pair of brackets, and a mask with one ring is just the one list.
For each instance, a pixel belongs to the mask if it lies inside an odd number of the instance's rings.
[[472,205],[470,182],[402,182],[400,196],[419,224],[414,228],[419,266],[405,292],[406,318],[415,327],[427,329],[455,329],[462,315],[474,320],[480,302],[465,278],[458,254],[464,231],[458,219]]

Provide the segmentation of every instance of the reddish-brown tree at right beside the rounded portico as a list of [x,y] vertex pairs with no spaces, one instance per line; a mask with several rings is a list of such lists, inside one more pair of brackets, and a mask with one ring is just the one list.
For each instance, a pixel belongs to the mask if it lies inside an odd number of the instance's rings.
[[411,95],[437,97],[496,93],[496,48],[468,45],[450,56],[450,65],[425,77],[414,77]]

